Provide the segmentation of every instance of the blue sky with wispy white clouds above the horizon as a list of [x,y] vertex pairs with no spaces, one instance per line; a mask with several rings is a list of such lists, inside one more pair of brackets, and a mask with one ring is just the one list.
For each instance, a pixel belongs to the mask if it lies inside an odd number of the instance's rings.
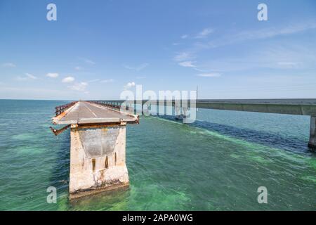
[[0,98],[119,99],[136,85],[316,98],[316,1],[0,0]]

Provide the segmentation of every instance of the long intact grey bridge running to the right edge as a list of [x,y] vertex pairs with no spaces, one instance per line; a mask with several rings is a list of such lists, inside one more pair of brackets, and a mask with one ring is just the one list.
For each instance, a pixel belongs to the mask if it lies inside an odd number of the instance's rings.
[[[93,101],[95,103],[101,103],[104,105],[119,107],[124,103],[130,108],[143,108],[145,104],[152,105],[170,105],[173,107],[182,108],[183,111],[187,111],[187,108],[191,107],[190,100],[183,102],[174,100],[108,100],[108,101]],[[310,116],[310,140],[308,146],[310,148],[316,148],[316,99],[228,99],[228,100],[212,100],[212,99],[197,99],[192,101],[196,108],[206,108],[213,110],[237,110],[245,112],[256,113],[277,113],[288,115],[306,115]],[[186,109],[185,109],[186,108]],[[159,110],[159,108],[158,108]],[[158,112],[159,113],[159,112]]]

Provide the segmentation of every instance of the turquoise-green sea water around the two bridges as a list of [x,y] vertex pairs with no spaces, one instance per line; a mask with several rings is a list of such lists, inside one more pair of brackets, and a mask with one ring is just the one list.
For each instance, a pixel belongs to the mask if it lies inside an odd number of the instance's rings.
[[70,202],[70,133],[48,128],[62,103],[0,100],[0,210],[316,210],[309,117],[202,109],[195,124],[129,125],[130,187]]

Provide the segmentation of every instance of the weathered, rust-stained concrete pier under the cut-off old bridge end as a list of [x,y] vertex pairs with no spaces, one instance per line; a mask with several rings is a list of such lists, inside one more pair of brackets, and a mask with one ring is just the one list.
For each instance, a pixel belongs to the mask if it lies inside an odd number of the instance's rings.
[[70,198],[129,186],[126,123],[72,124],[70,138]]

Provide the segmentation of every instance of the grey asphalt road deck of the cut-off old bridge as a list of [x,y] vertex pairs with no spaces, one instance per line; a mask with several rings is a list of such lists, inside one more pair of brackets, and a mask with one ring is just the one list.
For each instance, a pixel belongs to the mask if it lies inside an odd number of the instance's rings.
[[53,117],[55,124],[93,124],[107,122],[136,122],[138,117],[112,110],[103,105],[79,101],[71,108]]

